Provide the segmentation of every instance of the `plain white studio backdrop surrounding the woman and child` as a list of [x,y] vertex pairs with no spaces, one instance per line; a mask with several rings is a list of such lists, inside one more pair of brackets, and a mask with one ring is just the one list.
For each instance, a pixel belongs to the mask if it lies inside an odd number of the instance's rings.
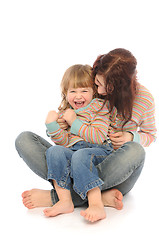
[[99,54],[122,47],[138,60],[139,81],[158,100],[158,1],[1,0],[0,1],[0,218],[3,239],[158,239],[158,141],[146,149],[145,168],[124,209],[106,208],[95,224],[73,214],[45,218],[43,209],[28,211],[21,193],[50,189],[33,174],[14,148],[25,130],[44,138],[46,114],[60,103],[60,81],[77,63],[92,65]]

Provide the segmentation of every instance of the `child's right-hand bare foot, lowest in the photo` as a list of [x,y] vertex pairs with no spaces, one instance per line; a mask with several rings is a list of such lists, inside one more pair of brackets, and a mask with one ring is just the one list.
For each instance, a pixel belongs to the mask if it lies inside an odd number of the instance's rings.
[[81,211],[80,214],[90,222],[96,222],[98,220],[106,218],[103,204],[101,206],[91,205],[85,211]]

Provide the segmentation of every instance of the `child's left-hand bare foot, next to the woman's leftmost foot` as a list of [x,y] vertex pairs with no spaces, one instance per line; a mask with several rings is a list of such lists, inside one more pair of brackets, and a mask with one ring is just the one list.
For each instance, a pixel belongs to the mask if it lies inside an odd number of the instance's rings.
[[63,213],[71,213],[74,210],[72,201],[58,201],[53,207],[44,209],[44,214],[47,217],[55,217]]

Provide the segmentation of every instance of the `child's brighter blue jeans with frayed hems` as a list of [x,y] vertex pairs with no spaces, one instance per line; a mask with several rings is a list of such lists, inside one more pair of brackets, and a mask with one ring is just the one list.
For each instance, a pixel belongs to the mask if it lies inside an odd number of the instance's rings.
[[96,166],[111,154],[111,144],[91,144],[80,141],[71,148],[52,146],[46,151],[48,180],[70,190],[73,179],[74,191],[84,200],[87,192],[104,184]]

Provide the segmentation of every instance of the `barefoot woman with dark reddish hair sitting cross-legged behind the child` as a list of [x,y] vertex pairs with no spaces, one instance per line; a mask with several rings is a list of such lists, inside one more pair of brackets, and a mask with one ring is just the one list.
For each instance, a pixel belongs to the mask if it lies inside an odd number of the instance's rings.
[[[122,208],[122,195],[136,183],[145,160],[143,147],[149,146],[156,134],[154,100],[137,82],[136,65],[135,57],[125,49],[101,55],[93,65],[98,93],[110,110],[109,137],[115,149],[97,165],[99,177],[104,181],[102,201],[116,209]],[[45,152],[50,146],[31,132],[23,132],[16,139],[19,155],[43,179],[47,179]],[[75,206],[85,203],[73,190],[71,194]],[[32,189],[22,197],[27,208],[47,207],[58,201],[54,190]]]

